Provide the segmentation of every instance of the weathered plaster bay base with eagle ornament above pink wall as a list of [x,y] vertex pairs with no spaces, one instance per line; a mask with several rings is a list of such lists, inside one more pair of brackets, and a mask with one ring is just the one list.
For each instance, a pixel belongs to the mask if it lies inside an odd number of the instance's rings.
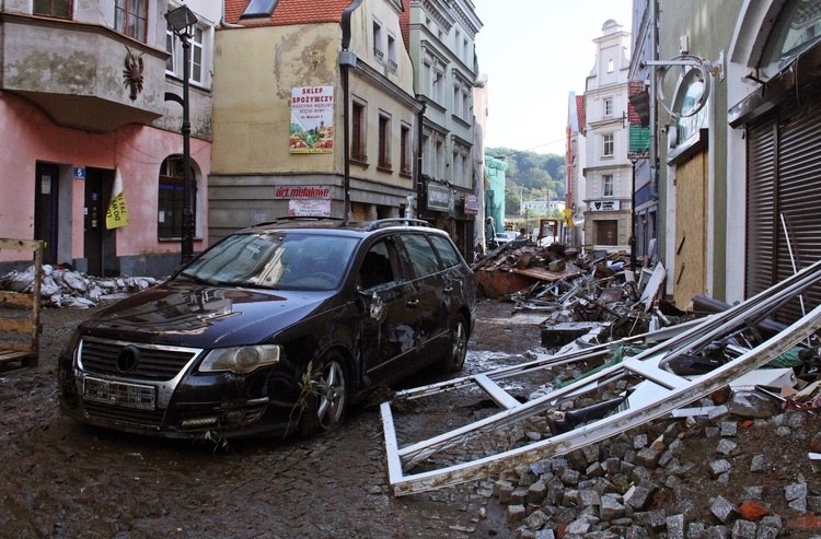
[[[164,51],[97,24],[2,16],[1,91],[25,97],[60,126],[93,132],[148,125],[163,115]],[[127,79],[129,49],[135,68]],[[129,83],[140,78],[141,89]]]

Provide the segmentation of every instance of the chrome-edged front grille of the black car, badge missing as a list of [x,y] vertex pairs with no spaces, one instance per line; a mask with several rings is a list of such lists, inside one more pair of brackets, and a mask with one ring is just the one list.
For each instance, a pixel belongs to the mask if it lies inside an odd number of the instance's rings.
[[[139,351],[139,361],[124,370],[118,358],[127,347]],[[164,382],[174,378],[199,353],[197,349],[161,347],[104,339],[83,339],[80,365],[86,373]]]

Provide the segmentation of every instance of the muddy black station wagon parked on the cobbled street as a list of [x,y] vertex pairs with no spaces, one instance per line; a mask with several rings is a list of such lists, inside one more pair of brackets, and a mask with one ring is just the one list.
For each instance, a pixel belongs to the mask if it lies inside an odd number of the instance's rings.
[[314,434],[375,387],[459,371],[475,309],[471,269],[424,221],[279,220],[78,326],[60,407],[165,437]]

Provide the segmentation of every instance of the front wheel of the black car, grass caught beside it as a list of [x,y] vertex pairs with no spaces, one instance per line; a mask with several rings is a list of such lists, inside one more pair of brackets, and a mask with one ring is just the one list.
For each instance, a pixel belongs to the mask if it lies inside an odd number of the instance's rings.
[[329,352],[320,361],[311,380],[307,407],[300,420],[300,432],[304,435],[337,429],[345,420],[348,406],[348,379],[338,352]]

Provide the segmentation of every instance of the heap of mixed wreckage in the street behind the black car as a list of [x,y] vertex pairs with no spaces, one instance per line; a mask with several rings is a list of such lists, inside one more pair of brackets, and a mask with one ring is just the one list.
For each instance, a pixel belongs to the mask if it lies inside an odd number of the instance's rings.
[[562,244],[510,242],[474,263],[479,293],[514,303],[513,313],[545,314],[543,344],[558,347],[604,326],[608,338],[641,333],[687,318],[659,298],[667,277],[659,262],[631,270],[626,254],[593,253]]

